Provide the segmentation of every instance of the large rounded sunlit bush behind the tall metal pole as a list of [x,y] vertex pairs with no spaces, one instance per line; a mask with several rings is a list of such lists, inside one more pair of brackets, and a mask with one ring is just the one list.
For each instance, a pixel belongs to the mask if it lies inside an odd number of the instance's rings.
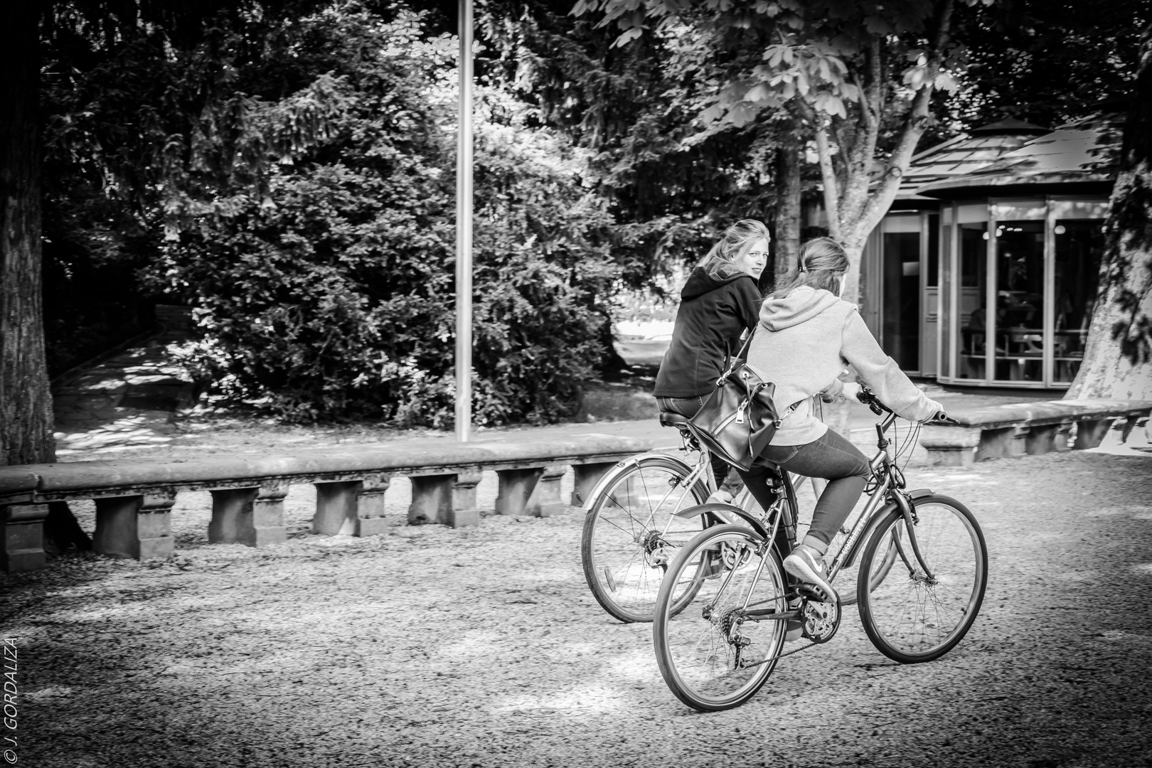
[[[296,33],[326,74],[251,100],[250,130],[296,124],[309,101],[339,109],[311,108],[323,130],[278,143],[262,195],[221,184],[204,201],[185,188],[188,221],[153,280],[196,298],[205,339],[185,360],[233,401],[291,419],[448,426],[454,41],[426,39],[411,13],[347,9]],[[529,128],[530,113],[499,92],[479,106],[475,421],[552,421],[574,411],[602,353],[609,220],[561,138]]]

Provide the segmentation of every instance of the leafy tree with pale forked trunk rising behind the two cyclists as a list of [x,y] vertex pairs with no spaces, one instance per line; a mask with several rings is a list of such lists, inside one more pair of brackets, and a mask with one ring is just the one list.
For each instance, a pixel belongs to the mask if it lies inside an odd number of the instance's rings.
[[[991,0],[960,0],[973,6]],[[856,301],[869,233],[895,198],[929,123],[937,89],[952,89],[967,51],[953,35],[955,0],[579,0],[576,15],[602,13],[616,45],[645,31],[698,62],[712,86],[707,124],[742,126],[789,108],[819,157],[829,234],[852,268]],[[882,166],[873,174],[873,165]]]

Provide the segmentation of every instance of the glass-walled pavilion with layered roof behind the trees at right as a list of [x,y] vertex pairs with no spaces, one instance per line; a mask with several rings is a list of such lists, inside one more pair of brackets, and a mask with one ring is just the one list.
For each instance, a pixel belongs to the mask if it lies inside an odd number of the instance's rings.
[[[1084,355],[1115,116],[1005,120],[912,158],[864,249],[864,320],[910,375],[1067,388]],[[814,223],[814,222],[813,222]]]

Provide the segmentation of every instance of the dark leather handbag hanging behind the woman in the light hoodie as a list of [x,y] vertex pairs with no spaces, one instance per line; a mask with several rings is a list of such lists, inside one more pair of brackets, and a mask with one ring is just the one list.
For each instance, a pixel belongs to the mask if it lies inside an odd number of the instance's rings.
[[752,339],[717,379],[712,390],[688,427],[712,454],[736,469],[749,471],[752,462],[772,440],[780,423],[796,410],[796,403],[782,413],[772,400],[775,385],[763,380],[744,363],[744,352]]

